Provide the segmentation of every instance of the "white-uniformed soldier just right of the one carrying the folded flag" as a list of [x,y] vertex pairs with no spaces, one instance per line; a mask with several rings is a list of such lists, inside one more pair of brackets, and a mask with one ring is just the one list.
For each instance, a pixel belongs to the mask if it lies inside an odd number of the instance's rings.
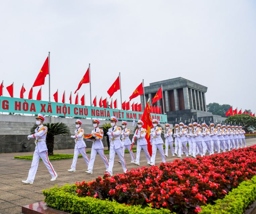
[[118,119],[115,116],[112,116],[110,119],[110,124],[112,128],[109,128],[107,132],[110,141],[108,166],[108,173],[110,174],[110,176],[113,175],[115,153],[117,153],[119,157],[119,160],[123,168],[123,173],[126,173],[127,171],[125,159],[122,154],[122,141],[120,140],[122,129],[116,125],[117,122]]

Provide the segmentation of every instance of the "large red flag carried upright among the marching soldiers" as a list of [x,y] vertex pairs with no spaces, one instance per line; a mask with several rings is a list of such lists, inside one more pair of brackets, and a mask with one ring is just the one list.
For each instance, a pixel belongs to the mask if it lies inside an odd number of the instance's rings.
[[141,120],[144,123],[144,125],[142,127],[147,129],[147,134],[145,136],[145,139],[148,142],[149,155],[152,156],[152,146],[150,145],[150,134],[149,133],[150,133],[150,129],[153,128],[153,124],[152,124],[152,119],[151,119],[151,115],[150,115],[150,106],[149,106],[148,102],[146,104],[146,108],[144,109]]

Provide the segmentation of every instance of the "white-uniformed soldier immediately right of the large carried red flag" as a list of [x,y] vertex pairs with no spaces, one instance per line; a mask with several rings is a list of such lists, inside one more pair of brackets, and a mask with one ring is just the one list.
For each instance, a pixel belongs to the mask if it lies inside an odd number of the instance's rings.
[[152,157],[150,159],[150,164],[151,166],[155,165],[155,159],[156,159],[156,150],[158,149],[160,154],[161,154],[161,158],[162,158],[162,162],[165,163],[165,156],[164,156],[164,152],[163,152],[163,140],[161,138],[161,134],[162,134],[162,128],[161,127],[157,127],[157,124],[159,124],[159,121],[157,119],[153,119],[152,120],[153,126],[154,128],[152,128],[150,130],[150,142],[152,145]]

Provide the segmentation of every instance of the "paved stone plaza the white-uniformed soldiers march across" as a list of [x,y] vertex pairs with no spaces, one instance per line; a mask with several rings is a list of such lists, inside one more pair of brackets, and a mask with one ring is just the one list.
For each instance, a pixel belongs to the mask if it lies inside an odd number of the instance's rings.
[[[256,138],[247,139],[248,146],[256,144]],[[105,148],[106,149],[106,148]],[[90,148],[88,149],[90,150]],[[55,153],[72,154],[73,149],[54,150]],[[42,194],[43,189],[54,187],[55,185],[63,186],[65,184],[73,184],[76,181],[91,181],[98,176],[103,176],[105,165],[99,155],[96,156],[93,174],[87,174],[87,166],[83,158],[79,158],[76,165],[76,172],[69,173],[72,160],[56,160],[52,161],[52,165],[58,174],[56,181],[51,182],[51,176],[44,166],[43,162],[39,163],[34,184],[26,185],[21,180],[26,180],[31,166],[29,160],[12,159],[14,155],[29,155],[33,152],[19,153],[1,153],[0,154],[0,214],[19,214],[21,206],[36,203],[44,200]],[[90,154],[88,154],[90,157]],[[109,155],[106,157],[109,159]],[[185,155],[183,155],[185,157]],[[172,162],[177,157],[166,158],[167,162]],[[148,166],[145,153],[141,152],[140,166],[134,165],[131,162],[130,154],[125,154],[127,169],[139,168]],[[118,156],[115,157],[113,174],[122,173],[121,165],[118,164]],[[161,163],[159,152],[156,155],[156,164]]]

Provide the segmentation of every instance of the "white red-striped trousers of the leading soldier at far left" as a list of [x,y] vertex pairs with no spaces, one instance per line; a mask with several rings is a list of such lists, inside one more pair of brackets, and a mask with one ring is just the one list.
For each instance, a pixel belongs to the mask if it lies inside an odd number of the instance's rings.
[[33,160],[31,164],[31,168],[29,170],[29,175],[28,175],[28,181],[34,182],[36,173],[37,173],[37,168],[39,164],[39,159],[40,157],[42,158],[44,165],[48,169],[49,173],[51,174],[52,178],[54,178],[57,173],[54,171],[53,166],[51,165],[49,158],[48,158],[48,152],[47,151],[42,151],[42,152],[34,152],[33,154]]

